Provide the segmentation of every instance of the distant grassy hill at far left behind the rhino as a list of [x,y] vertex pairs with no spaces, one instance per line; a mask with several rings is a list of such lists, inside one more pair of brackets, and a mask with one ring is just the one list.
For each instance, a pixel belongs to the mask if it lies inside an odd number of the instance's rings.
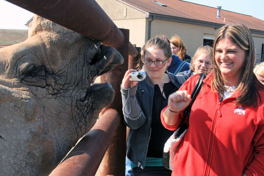
[[27,39],[27,30],[0,29],[0,44],[18,44]]

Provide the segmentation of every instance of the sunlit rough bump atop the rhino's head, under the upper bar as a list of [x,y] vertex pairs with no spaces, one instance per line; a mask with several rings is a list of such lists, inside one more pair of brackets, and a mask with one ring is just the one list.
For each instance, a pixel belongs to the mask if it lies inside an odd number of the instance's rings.
[[66,27],[63,27],[55,22],[51,22],[50,20],[47,20],[39,15],[34,15],[32,27],[29,30],[28,38],[43,31],[59,32],[62,35],[68,31],[71,31],[70,29],[67,29]]

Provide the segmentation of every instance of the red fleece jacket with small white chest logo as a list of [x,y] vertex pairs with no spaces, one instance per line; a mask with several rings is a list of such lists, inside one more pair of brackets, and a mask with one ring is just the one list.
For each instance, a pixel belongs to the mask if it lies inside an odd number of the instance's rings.
[[[172,176],[264,176],[264,90],[259,90],[261,104],[256,107],[237,106],[237,93],[220,102],[211,90],[212,76],[203,80],[192,106]],[[192,76],[179,90],[191,94],[197,80],[198,75]],[[164,110],[162,125],[175,131],[179,124],[165,124]]]

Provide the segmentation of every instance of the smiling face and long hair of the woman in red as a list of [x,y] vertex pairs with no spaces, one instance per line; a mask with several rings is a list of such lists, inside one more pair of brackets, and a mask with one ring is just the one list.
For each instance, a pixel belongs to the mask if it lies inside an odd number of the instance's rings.
[[214,77],[212,89],[223,96],[225,86],[240,91],[237,104],[257,104],[255,86],[255,49],[253,38],[245,25],[227,25],[221,28],[214,43]]

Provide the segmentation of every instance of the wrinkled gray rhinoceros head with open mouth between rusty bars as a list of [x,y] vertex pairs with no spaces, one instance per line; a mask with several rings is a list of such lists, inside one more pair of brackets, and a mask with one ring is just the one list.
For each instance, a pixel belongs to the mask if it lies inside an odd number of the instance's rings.
[[41,17],[33,28],[0,49],[0,176],[48,175],[113,100],[94,78],[123,63],[114,48]]

